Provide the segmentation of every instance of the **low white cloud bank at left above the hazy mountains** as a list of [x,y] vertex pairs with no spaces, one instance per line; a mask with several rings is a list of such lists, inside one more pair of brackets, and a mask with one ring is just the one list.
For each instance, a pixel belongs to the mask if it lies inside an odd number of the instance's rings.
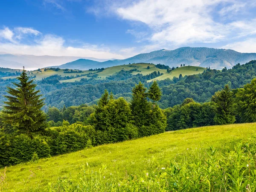
[[[20,34],[35,35],[32,44],[20,42]],[[39,36],[40,34],[40,36]],[[4,41],[1,41],[3,40]],[[6,41],[7,40],[7,41]],[[52,34],[41,34],[32,28],[9,28],[0,30],[0,52],[10,54],[29,54],[29,55],[50,55],[50,56],[81,56],[95,57],[98,59],[123,59],[121,54],[112,53],[104,45],[84,44],[81,47],[65,46],[65,40]]]

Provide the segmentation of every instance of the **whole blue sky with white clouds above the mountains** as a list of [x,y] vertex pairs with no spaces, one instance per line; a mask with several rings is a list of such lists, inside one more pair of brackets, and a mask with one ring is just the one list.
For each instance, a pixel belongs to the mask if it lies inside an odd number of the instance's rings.
[[0,53],[124,59],[180,47],[256,52],[256,0],[1,0]]

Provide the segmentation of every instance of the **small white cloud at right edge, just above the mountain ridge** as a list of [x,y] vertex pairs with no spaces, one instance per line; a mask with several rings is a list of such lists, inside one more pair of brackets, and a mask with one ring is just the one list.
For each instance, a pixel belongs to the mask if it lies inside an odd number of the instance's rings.
[[230,43],[223,46],[224,49],[233,49],[241,53],[255,53],[256,52],[256,38],[249,38],[244,41]]

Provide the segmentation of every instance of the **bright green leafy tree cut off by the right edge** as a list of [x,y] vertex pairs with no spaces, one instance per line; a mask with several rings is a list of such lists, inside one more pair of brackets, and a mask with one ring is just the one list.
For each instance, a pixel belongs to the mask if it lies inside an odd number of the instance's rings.
[[256,121],[256,79],[238,90],[236,103],[242,122]]

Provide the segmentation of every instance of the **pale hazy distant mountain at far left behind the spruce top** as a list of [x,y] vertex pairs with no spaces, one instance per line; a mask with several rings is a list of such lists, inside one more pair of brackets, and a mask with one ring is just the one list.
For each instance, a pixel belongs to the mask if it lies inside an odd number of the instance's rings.
[[61,65],[77,59],[91,59],[98,62],[104,62],[107,59],[96,59],[93,57],[78,57],[78,56],[35,56],[35,55],[14,55],[0,53],[0,67],[2,68],[18,68],[23,66],[27,70],[34,70],[52,65]]

